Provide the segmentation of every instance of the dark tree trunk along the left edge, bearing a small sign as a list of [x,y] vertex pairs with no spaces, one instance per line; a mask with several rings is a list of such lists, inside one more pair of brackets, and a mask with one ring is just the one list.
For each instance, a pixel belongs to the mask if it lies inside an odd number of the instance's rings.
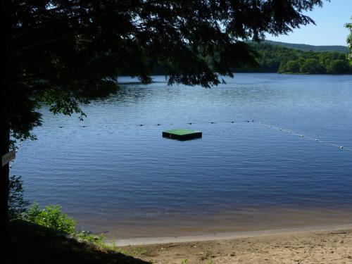
[[[1,17],[1,40],[0,52],[1,63],[0,70],[0,156],[8,153],[10,146],[10,96],[8,76],[10,68],[10,30],[11,22],[9,18],[9,1],[0,1]],[[2,162],[1,162],[2,163]],[[0,239],[1,241],[8,238],[8,191],[9,191],[9,167],[8,164],[2,166],[0,171]]]

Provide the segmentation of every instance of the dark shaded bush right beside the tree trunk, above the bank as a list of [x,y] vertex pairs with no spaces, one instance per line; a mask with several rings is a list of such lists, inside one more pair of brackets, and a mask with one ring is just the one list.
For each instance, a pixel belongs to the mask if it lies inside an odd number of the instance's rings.
[[20,176],[10,177],[10,193],[8,196],[8,219],[22,219],[26,213],[26,206],[29,205],[28,201],[23,199],[23,181]]

